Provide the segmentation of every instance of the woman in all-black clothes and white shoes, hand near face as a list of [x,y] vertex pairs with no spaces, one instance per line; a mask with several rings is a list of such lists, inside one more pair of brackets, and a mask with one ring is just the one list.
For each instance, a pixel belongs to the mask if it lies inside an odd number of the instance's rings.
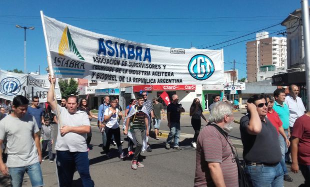
[[202,114],[202,107],[198,98],[195,98],[192,101],[192,104],[189,108],[189,116],[191,116],[191,126],[195,131],[191,145],[196,149],[196,140],[201,127],[201,118],[204,119],[204,121],[207,123],[207,120]]

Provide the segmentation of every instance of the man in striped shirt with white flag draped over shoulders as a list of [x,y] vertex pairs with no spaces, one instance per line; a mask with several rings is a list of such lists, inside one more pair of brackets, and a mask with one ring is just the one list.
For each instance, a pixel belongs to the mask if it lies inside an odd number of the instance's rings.
[[138,95],[136,97],[136,100],[137,105],[134,105],[132,107],[134,110],[130,111],[125,122],[126,127],[124,130],[124,135],[127,135],[129,123],[130,124],[132,123],[132,125],[130,125],[130,129],[131,133],[133,134],[136,140],[134,156],[131,161],[131,168],[133,170],[144,167],[144,165],[140,163],[141,161],[140,154],[145,136],[145,130],[146,130],[146,136],[148,136],[148,119],[149,119],[145,106],[143,106],[144,98],[142,97],[142,95]]

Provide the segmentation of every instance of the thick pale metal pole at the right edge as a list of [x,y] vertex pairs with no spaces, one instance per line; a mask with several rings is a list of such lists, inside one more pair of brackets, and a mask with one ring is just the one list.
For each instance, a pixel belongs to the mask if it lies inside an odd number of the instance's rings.
[[310,33],[309,33],[309,5],[308,0],[301,0],[301,18],[304,46],[305,81],[307,89],[307,110],[310,108]]

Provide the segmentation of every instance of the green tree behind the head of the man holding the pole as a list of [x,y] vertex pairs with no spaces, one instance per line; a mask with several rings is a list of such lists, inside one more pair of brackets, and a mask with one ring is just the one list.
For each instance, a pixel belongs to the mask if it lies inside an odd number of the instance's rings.
[[67,79],[58,79],[58,84],[60,88],[60,93],[62,97],[69,97],[70,95],[77,95],[77,81],[73,78]]

